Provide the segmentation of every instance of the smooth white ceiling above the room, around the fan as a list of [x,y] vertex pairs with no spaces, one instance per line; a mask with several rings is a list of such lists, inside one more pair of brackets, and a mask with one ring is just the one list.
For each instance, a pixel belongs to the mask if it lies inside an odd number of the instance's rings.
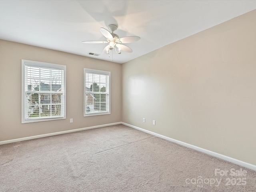
[[112,61],[106,44],[82,41],[104,41],[100,28],[116,24],[120,38],[141,38],[114,52],[124,63],[254,9],[256,0],[0,0],[0,39]]

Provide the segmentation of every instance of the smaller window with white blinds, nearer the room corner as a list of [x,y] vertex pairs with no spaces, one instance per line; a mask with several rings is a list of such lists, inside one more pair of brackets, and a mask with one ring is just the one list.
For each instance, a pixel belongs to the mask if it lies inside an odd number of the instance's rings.
[[84,116],[110,114],[110,72],[84,68]]

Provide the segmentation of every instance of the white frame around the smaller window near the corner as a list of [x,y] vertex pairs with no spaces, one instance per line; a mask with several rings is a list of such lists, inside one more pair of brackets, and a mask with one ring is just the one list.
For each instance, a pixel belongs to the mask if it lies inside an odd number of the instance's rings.
[[[95,112],[95,113],[90,113],[90,114],[86,113],[86,73],[108,75],[108,111],[107,112],[98,112],[98,113]],[[111,78],[110,78],[109,71],[84,68],[84,117],[111,114],[111,110],[110,110],[110,79]]]

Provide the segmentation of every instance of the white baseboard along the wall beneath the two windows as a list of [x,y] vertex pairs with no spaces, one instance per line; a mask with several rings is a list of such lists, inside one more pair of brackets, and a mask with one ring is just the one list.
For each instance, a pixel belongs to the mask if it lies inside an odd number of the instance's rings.
[[18,141],[25,141],[25,140],[30,140],[30,139],[37,139],[37,138],[42,138],[42,137],[48,137],[48,136],[53,136],[53,135],[60,135],[60,134],[65,134],[65,133],[71,133],[71,132],[76,132],[76,131],[83,131],[83,130],[88,130],[88,129],[95,129],[95,128],[100,128],[100,127],[118,125],[118,124],[122,124],[122,122],[116,122],[116,123],[110,123],[110,124],[104,124],[104,125],[97,125],[97,126],[92,126],[92,127],[80,128],[80,129],[72,129],[72,130],[67,130],[67,131],[60,131],[60,132],[55,132],[55,133],[47,133],[47,134],[42,134],[42,135],[35,135],[35,136],[30,136],[30,137],[23,137],[23,138],[18,138],[18,139],[0,141],[0,145],[8,144],[8,143],[14,143],[14,142],[18,142]]

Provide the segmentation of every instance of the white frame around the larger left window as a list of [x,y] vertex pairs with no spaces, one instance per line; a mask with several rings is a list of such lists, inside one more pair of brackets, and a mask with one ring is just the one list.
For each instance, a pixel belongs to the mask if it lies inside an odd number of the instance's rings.
[[[38,62],[38,61],[31,61],[31,60],[21,60],[22,65],[22,107],[21,107],[21,123],[30,123],[30,122],[42,122],[42,121],[50,121],[50,120],[60,120],[60,119],[66,119],[66,66],[60,65],[60,64],[52,64],[52,63],[46,63],[46,62]],[[40,118],[26,118],[26,69],[25,66],[34,66],[34,67],[42,67],[42,68],[51,68],[51,69],[58,69],[63,70],[63,102],[61,103],[63,107],[62,109],[62,116],[54,117],[54,116],[47,116],[47,117],[40,117]],[[51,92],[49,92],[51,94]],[[54,93],[52,93],[54,94]],[[49,96],[50,97],[50,96]]]

